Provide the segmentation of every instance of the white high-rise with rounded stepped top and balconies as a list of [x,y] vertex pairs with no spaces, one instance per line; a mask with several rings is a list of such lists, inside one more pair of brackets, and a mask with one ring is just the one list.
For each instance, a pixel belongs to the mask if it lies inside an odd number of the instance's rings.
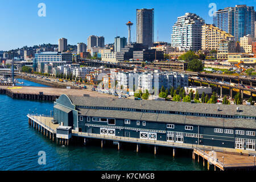
[[194,13],[185,13],[177,18],[172,27],[171,46],[180,51],[199,51],[204,19]]

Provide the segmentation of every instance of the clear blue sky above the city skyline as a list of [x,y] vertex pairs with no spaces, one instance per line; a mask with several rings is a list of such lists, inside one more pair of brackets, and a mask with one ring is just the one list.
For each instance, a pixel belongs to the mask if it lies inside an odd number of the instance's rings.
[[[46,4],[46,17],[38,16],[39,3]],[[127,37],[125,23],[129,20],[134,23],[133,41],[136,9],[142,8],[155,9],[155,41],[158,36],[159,41],[170,42],[177,16],[196,13],[206,23],[212,23],[208,15],[210,3],[216,3],[217,10],[245,3],[256,6],[256,0],[0,0],[0,50],[57,44],[62,37],[68,39],[68,44],[87,44],[90,35],[104,36],[105,43],[113,43],[115,36]]]

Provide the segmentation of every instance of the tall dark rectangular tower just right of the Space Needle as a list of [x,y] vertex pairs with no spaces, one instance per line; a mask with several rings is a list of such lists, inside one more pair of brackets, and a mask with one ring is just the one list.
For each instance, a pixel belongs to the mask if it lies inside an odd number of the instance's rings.
[[136,42],[152,47],[154,43],[154,9],[136,10]]

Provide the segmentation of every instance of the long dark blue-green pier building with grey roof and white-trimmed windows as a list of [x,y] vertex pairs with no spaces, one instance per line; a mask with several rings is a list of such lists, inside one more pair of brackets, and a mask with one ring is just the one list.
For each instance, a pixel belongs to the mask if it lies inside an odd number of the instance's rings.
[[[84,138],[255,155],[256,107],[61,95],[54,119]],[[64,131],[57,130],[61,134]]]

